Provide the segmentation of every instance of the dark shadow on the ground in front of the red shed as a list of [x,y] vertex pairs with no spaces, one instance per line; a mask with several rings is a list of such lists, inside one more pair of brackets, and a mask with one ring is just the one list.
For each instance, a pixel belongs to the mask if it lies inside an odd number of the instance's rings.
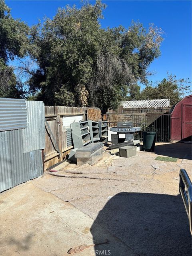
[[191,160],[191,144],[182,142],[168,143],[155,146],[155,153],[162,156],[170,156],[183,159],[186,154],[186,159]]

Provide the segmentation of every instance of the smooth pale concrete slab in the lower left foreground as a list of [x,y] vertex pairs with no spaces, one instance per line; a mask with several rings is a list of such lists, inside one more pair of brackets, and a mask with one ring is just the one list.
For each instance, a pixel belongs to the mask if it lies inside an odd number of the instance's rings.
[[[98,235],[93,240],[92,218],[32,181],[2,193],[0,202],[0,255],[66,256],[74,246],[104,242],[106,238],[109,243],[102,245],[102,250],[115,250],[114,244],[118,244],[119,255],[136,255],[100,225],[94,227]],[[94,247],[79,255],[95,255]]]

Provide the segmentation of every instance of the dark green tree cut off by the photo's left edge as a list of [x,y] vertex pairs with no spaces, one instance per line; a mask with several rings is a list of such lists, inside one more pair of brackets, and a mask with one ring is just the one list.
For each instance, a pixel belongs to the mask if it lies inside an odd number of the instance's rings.
[[22,85],[17,81],[9,60],[24,57],[28,44],[28,26],[10,15],[10,8],[0,0],[0,97],[20,98]]

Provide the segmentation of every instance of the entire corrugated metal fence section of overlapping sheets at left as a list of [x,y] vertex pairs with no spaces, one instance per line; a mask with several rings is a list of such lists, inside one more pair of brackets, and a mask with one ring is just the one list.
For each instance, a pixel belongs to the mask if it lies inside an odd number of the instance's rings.
[[[42,148],[45,133],[43,102],[0,98],[0,106],[0,112],[3,112],[5,117],[0,119],[0,126],[4,130],[0,132],[2,192],[43,174]],[[10,115],[11,111],[15,115]]]

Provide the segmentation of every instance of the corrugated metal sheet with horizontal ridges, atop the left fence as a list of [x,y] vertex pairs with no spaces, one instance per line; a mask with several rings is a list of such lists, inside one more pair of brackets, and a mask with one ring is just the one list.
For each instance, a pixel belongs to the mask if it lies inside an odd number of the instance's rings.
[[0,98],[0,132],[26,127],[27,110],[25,100]]

